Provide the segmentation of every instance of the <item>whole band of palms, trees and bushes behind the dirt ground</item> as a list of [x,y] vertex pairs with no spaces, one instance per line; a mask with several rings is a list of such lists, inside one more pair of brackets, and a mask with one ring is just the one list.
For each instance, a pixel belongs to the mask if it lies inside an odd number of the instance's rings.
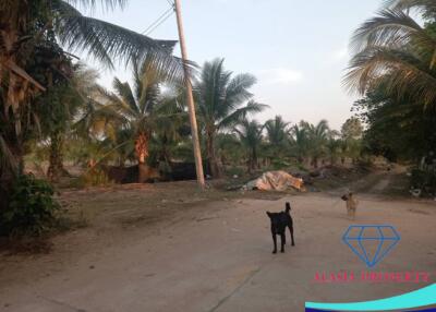
[[[8,26],[0,35],[0,235],[40,235],[50,227],[60,209],[51,184],[195,178],[175,41],[77,10],[124,2],[1,2],[0,24]],[[280,115],[259,122],[256,115],[269,106],[252,93],[255,76],[227,70],[219,58],[199,67],[192,81],[207,177],[316,172],[384,156],[413,166],[411,187],[434,195],[436,4],[390,2],[352,39],[344,83],[362,99],[339,131],[327,120]],[[77,50],[108,68],[124,62],[131,80],[114,77],[112,88],[102,87],[98,72],[73,55]]]

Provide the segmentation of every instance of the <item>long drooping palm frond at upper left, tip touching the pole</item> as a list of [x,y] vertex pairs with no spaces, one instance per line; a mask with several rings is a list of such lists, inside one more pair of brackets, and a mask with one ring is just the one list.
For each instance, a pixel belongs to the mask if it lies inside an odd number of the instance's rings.
[[148,58],[157,71],[168,77],[183,80],[183,62],[171,52],[177,41],[155,40],[121,26],[82,15],[74,7],[57,0],[57,35],[70,50],[88,51],[94,58],[113,68],[112,60],[131,63]]

